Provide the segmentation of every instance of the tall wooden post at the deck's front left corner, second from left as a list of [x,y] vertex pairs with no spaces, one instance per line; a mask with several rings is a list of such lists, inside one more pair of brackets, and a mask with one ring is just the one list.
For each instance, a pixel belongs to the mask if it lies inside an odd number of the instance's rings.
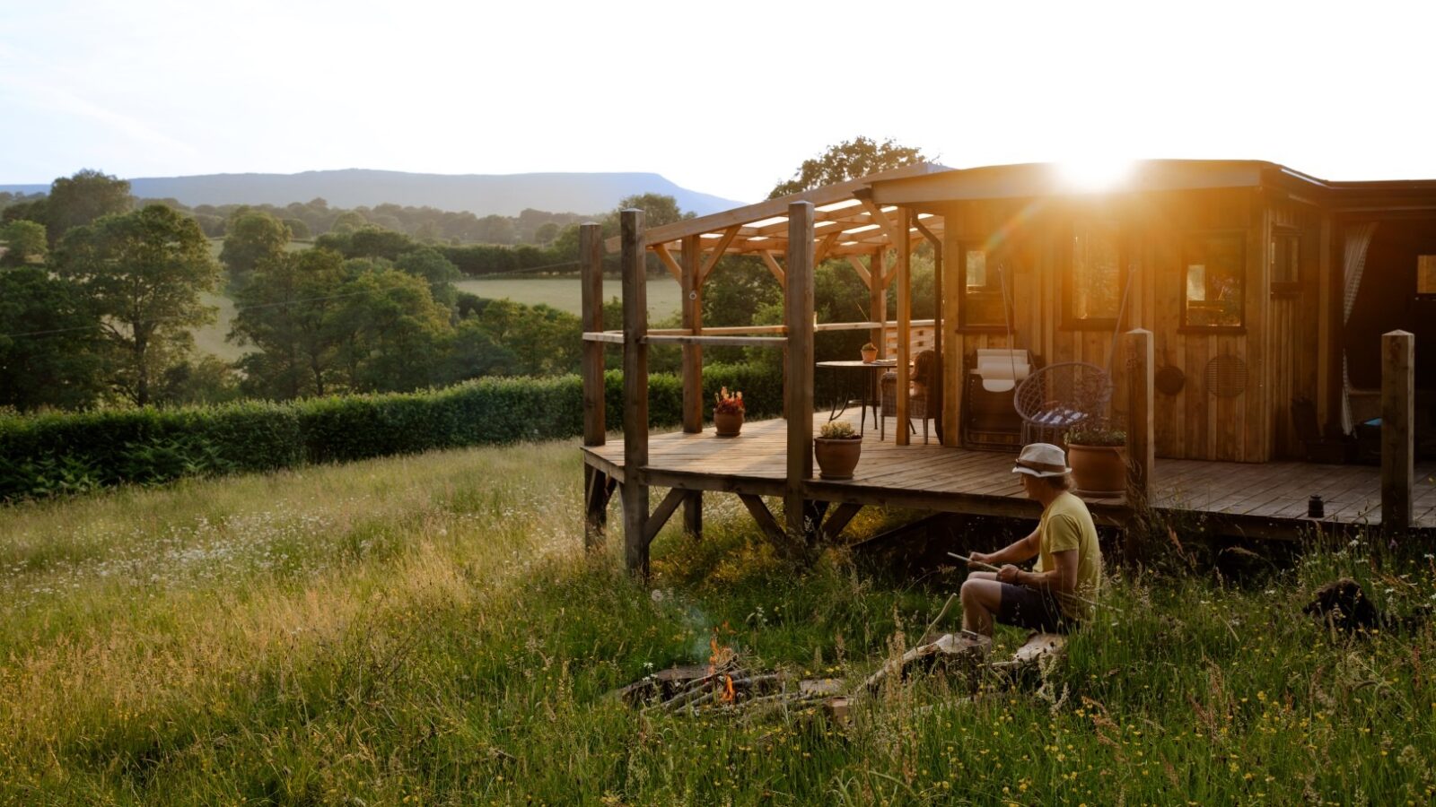
[[648,576],[648,250],[643,211],[619,213],[623,263],[623,563]]

